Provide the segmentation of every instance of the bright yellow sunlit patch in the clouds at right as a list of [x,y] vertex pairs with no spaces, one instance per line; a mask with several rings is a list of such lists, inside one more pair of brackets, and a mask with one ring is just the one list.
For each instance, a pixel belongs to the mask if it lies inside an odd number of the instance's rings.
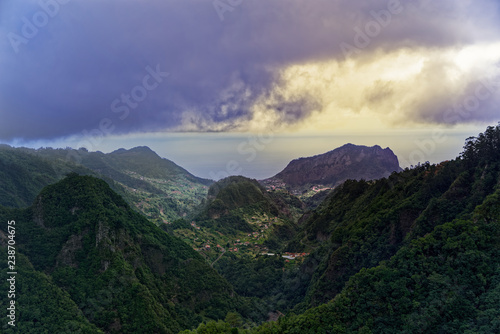
[[[279,84],[257,101],[252,120],[239,129],[277,130],[280,111],[273,107],[277,101],[297,100],[314,108],[295,124],[281,123],[287,125],[282,130],[330,132],[347,127],[356,132],[449,125],[454,119],[450,110],[457,103],[472,109],[458,114],[461,122],[483,121],[494,116],[486,107],[499,104],[494,103],[498,95],[488,91],[481,79],[498,85],[499,63],[500,43],[495,43],[448,50],[403,49],[374,53],[370,60],[364,56],[292,65],[281,71]],[[471,85],[475,89],[468,91]],[[477,107],[468,102],[476,91],[481,96],[476,98]]]

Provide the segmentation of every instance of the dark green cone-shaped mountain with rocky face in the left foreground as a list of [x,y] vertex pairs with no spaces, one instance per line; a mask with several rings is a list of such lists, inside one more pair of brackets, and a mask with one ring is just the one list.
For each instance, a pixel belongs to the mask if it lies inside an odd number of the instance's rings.
[[[23,333],[82,326],[89,333],[177,333],[230,311],[258,315],[202,256],[133,211],[100,179],[70,174],[44,188],[29,208],[0,207],[0,218],[15,220],[17,329]],[[7,235],[1,224],[2,263]],[[57,303],[45,300],[49,296]],[[60,314],[57,307],[65,308],[61,317],[48,322]]]

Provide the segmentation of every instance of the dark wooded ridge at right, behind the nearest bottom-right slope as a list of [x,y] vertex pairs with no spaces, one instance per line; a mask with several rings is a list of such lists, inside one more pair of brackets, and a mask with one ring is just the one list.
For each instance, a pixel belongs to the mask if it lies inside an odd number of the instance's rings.
[[347,181],[333,190],[287,246],[312,252],[302,267],[314,271],[303,282],[302,307],[328,302],[359,270],[390,259],[437,226],[470,219],[500,185],[500,126],[487,133],[469,141],[456,160],[370,183]]

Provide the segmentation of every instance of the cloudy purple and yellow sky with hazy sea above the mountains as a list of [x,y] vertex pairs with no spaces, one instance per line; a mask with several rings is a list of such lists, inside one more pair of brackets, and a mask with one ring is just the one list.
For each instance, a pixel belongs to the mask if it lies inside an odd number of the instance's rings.
[[0,143],[264,178],[345,143],[453,159],[499,107],[498,0],[0,0]]

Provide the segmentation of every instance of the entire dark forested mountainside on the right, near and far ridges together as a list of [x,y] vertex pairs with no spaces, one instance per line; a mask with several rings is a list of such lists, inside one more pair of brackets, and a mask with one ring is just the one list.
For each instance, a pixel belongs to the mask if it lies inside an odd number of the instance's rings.
[[190,333],[499,332],[500,126],[469,138],[455,161],[346,182],[288,248],[313,251],[296,308],[307,311]]

